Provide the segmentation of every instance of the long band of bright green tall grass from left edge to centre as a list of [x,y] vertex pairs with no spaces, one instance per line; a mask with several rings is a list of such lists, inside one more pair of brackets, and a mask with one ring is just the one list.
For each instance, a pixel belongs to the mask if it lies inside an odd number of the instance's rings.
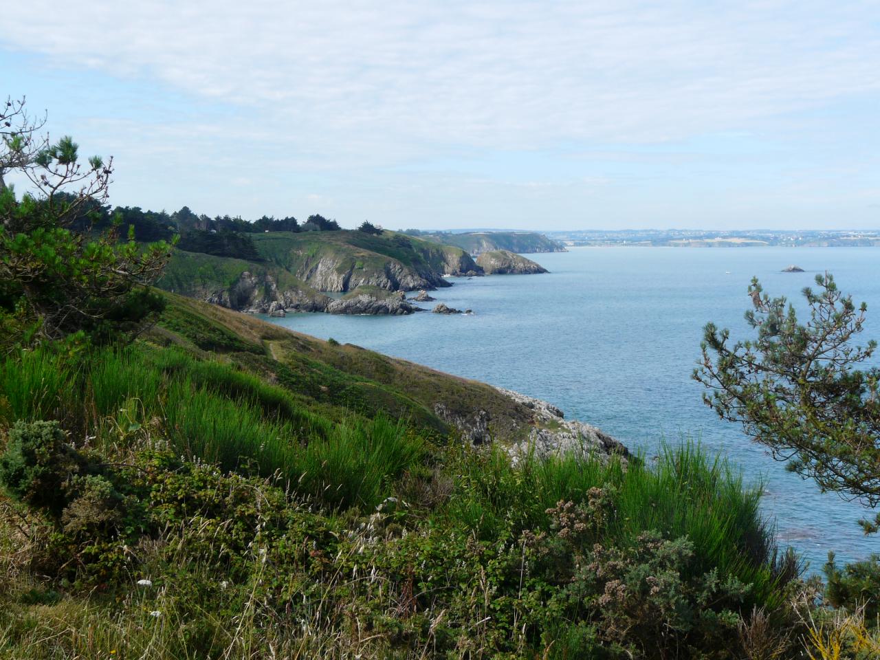
[[120,442],[110,429],[124,436],[152,423],[181,455],[280,476],[328,506],[370,510],[424,453],[403,422],[349,414],[335,423],[281,386],[179,348],[106,348],[77,358],[36,350],[6,358],[0,378],[3,426],[56,419],[107,447]]

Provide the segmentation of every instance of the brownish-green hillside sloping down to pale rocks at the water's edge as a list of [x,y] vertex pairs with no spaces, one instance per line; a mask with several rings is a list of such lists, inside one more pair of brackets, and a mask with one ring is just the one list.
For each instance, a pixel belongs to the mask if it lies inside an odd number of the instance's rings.
[[448,426],[434,414],[443,403],[454,414],[487,410],[499,439],[527,433],[531,412],[494,387],[458,378],[351,344],[334,346],[238,312],[180,296],[148,339],[199,353],[222,352],[249,370],[270,376],[309,405],[334,418],[347,410],[384,411],[432,433]]

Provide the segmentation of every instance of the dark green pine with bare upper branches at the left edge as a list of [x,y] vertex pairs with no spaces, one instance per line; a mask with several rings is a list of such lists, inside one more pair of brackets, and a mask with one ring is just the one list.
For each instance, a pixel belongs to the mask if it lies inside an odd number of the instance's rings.
[[20,198],[9,186],[0,190],[0,323],[14,329],[4,334],[25,341],[128,340],[163,307],[150,284],[171,246],[137,243],[133,226],[121,241],[119,218],[103,231],[71,230],[84,216],[97,219],[113,161],[82,162],[70,136],[47,138],[34,151],[33,137],[20,138],[34,126],[23,106],[24,99],[11,105],[18,112],[4,123],[12,137],[4,136],[0,150],[4,170],[22,173],[32,185]]

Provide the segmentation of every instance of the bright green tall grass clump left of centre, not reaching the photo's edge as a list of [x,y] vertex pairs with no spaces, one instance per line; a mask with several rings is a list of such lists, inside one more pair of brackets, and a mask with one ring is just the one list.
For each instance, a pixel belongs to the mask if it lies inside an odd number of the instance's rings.
[[304,433],[292,422],[267,419],[257,400],[233,405],[188,377],[168,385],[163,417],[181,454],[225,470],[281,476],[334,509],[376,507],[391,493],[392,480],[424,454],[422,439],[401,422],[353,417]]

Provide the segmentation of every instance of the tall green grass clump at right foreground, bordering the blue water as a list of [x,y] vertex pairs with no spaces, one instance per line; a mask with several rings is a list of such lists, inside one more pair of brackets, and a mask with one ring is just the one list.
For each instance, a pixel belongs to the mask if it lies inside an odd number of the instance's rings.
[[[612,516],[597,542],[632,547],[646,532],[693,543],[693,570],[716,570],[751,585],[762,605],[776,605],[781,576],[774,565],[774,529],[759,510],[760,485],[746,487],[742,476],[699,444],[664,446],[649,464],[574,454],[526,456],[512,465],[503,451],[470,455],[463,462],[460,491],[447,515],[491,539],[547,529],[546,511],[559,502],[586,502],[591,488],[605,489]],[[512,530],[505,530],[505,526]],[[795,571],[796,572],[796,571]],[[771,602],[772,601],[772,602]]]

